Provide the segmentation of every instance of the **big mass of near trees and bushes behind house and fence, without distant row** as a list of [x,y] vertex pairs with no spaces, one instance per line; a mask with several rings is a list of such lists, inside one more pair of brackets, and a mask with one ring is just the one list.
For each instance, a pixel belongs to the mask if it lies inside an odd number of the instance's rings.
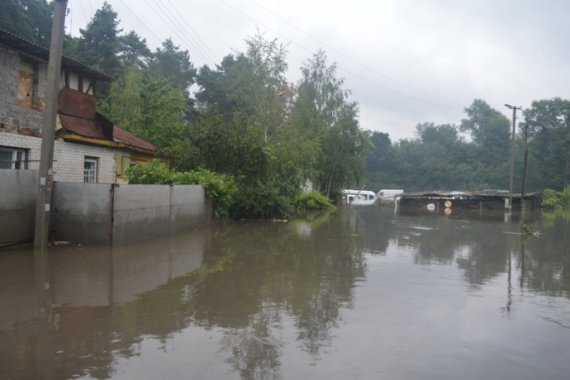
[[[0,14],[18,17],[0,17],[0,27],[46,46],[51,13],[45,0],[5,1]],[[152,51],[123,32],[105,3],[78,37],[65,37],[64,54],[114,78],[97,83],[98,112],[154,143],[171,168],[135,169],[133,182],[205,180],[220,215],[256,219],[294,213],[307,181],[331,198],[361,183],[369,138],[335,63],[317,51],[291,83],[278,40],[245,42],[195,67],[171,39]]]

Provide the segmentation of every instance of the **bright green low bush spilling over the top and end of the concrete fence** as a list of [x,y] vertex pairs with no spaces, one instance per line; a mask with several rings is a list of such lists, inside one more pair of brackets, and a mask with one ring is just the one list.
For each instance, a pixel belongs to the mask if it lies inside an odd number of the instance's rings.
[[214,210],[220,217],[227,217],[232,207],[237,186],[233,177],[218,174],[206,169],[189,172],[171,171],[158,160],[139,164],[127,170],[131,184],[155,185],[202,185],[214,201]]

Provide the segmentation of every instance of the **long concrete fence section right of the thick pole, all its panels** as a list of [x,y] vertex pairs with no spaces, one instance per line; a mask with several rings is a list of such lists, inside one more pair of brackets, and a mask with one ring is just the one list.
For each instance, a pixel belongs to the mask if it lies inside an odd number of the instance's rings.
[[204,226],[212,202],[199,185],[56,182],[54,240],[122,245]]

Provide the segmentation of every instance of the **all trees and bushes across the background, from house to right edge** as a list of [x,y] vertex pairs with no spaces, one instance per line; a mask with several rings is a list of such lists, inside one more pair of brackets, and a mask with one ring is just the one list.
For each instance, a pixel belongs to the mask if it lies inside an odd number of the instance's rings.
[[[46,0],[3,1],[0,28],[47,46],[51,14]],[[162,183],[164,171],[169,181],[202,181],[220,216],[287,218],[327,208],[314,194],[303,195],[307,183],[328,199],[353,187],[509,187],[505,110],[475,99],[457,124],[423,122],[415,138],[392,141],[361,128],[358,104],[323,51],[306,59],[296,82],[285,75],[285,47],[261,33],[243,51],[195,67],[190,52],[171,39],[152,51],[136,31],[123,31],[105,3],[79,36],[65,37],[64,54],[114,78],[97,84],[98,111],[153,142],[168,163],[168,170],[133,170],[133,182]],[[516,132],[515,192],[522,188],[526,149],[527,193],[569,186],[570,100],[533,102],[519,115]]]

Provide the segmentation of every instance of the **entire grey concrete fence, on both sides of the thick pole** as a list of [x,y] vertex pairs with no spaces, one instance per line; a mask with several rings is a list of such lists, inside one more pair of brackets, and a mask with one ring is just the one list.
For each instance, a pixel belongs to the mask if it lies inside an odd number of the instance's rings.
[[[37,172],[0,170],[0,246],[33,240]],[[122,245],[204,226],[213,205],[199,185],[56,182],[50,237]]]

